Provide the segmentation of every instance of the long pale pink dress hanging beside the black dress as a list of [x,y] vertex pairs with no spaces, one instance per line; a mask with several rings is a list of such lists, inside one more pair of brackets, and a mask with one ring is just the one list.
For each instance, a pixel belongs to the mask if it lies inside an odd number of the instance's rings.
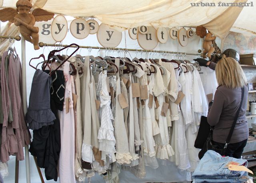
[[[72,98],[73,76],[69,74],[69,62],[63,66],[65,77],[65,101],[63,111],[58,111],[60,117],[60,159],[59,159],[59,177],[60,183],[76,183],[74,172],[75,159],[75,121]],[[66,113],[66,102],[69,98],[69,111]]]

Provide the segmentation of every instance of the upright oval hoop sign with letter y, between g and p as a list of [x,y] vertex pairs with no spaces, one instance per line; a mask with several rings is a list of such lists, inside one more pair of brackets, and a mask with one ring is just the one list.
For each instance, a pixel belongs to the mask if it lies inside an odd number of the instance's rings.
[[66,18],[62,15],[56,16],[52,21],[52,28],[51,28],[52,38],[56,42],[61,42],[66,37],[67,32],[68,32],[68,22]]

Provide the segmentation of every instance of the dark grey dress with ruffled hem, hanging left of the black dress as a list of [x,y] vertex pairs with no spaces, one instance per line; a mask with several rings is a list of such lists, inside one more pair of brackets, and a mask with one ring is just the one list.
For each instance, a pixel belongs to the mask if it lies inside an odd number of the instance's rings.
[[30,129],[52,125],[56,119],[50,108],[50,87],[52,78],[42,70],[36,70],[29,96],[26,121]]

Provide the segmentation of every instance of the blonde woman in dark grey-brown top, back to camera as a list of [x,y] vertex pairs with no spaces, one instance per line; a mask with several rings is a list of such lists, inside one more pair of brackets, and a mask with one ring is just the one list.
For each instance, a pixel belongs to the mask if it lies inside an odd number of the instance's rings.
[[216,79],[219,87],[214,95],[214,101],[207,116],[207,121],[213,128],[213,143],[224,148],[225,141],[238,111],[242,90],[244,97],[236,121],[236,125],[226,149],[226,156],[241,158],[249,136],[246,121],[248,88],[246,76],[241,66],[233,58],[222,58],[216,65]]

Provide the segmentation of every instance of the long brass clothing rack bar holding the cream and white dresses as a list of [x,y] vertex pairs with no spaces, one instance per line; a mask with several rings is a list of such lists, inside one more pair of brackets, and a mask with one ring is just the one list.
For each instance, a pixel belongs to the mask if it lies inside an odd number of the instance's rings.
[[[63,44],[46,44],[43,42],[40,42],[38,44],[40,47],[44,46],[55,46],[55,47],[66,47],[68,45]],[[76,46],[70,46],[77,48]],[[137,49],[127,49],[127,48],[105,48],[105,47],[98,47],[98,46],[79,46],[79,48],[88,48],[88,49],[100,49],[100,50],[124,50],[124,51],[135,51],[135,52],[154,52],[154,53],[166,53],[166,54],[186,54],[186,55],[196,55],[201,56],[201,54],[192,54],[192,53],[184,53],[184,52],[168,52],[168,51],[156,51],[156,50],[137,50]]]

